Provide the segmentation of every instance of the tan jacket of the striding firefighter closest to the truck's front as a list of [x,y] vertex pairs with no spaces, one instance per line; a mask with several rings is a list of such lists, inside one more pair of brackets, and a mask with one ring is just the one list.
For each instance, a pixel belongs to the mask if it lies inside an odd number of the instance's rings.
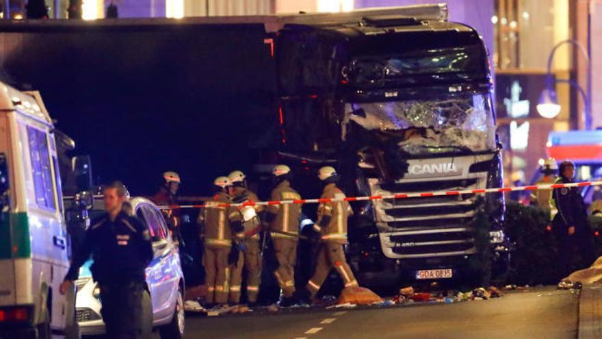
[[[321,199],[343,199],[345,194],[336,184],[324,186]],[[315,229],[322,234],[322,241],[347,243],[347,218],[353,214],[347,201],[320,203],[317,208]],[[322,225],[324,218],[330,218],[327,225]],[[322,225],[320,227],[319,225]]]

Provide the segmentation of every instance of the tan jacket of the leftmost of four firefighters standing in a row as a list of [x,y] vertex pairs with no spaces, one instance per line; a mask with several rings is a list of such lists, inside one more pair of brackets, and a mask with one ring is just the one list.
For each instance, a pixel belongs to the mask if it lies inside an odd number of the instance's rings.
[[211,201],[205,203],[201,220],[205,224],[205,246],[231,247],[233,230],[231,223],[240,221],[240,213],[236,208],[226,207],[224,204],[232,203],[226,192],[215,194]]

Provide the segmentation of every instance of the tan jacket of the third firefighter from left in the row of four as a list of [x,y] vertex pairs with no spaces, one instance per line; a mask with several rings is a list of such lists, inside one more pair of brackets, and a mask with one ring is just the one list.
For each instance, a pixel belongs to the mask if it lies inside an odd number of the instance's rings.
[[[301,196],[291,188],[288,180],[283,180],[272,190],[270,201],[300,200]],[[276,218],[270,225],[270,229],[288,233],[299,234],[299,217],[301,216],[301,204],[285,203],[282,205],[268,205],[267,212],[276,214]],[[272,233],[273,238],[293,238],[284,234]]]

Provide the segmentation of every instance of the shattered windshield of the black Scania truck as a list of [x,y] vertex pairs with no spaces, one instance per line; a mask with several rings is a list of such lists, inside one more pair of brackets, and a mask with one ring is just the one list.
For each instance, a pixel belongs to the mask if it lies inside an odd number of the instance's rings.
[[486,93],[441,99],[348,103],[343,140],[356,123],[393,139],[410,154],[487,151],[495,148],[495,125]]

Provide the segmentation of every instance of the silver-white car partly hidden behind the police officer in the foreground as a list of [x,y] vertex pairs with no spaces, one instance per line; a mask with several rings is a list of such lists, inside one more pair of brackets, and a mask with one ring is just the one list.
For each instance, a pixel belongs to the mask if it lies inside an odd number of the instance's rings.
[[[178,247],[172,241],[167,224],[157,206],[144,198],[129,201],[133,212],[142,219],[153,238],[153,261],[146,268],[145,294],[146,319],[150,321],[152,310],[153,328],[159,330],[161,338],[182,338],[184,334],[184,276],[180,266]],[[96,214],[98,210],[93,210]],[[92,280],[88,260],[79,271],[77,299],[75,302],[77,322],[82,335],[91,336],[105,333],[105,323],[101,317],[100,288]],[[149,302],[150,299],[150,302]],[[150,326],[145,326],[150,329]]]

